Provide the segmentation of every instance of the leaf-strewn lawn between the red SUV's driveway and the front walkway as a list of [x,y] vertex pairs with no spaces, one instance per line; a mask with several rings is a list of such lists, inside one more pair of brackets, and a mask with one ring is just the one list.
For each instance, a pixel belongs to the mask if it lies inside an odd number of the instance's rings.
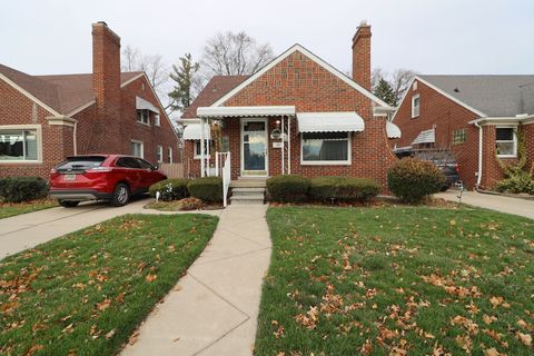
[[207,215],[129,215],[6,258],[0,354],[117,353],[216,225]]

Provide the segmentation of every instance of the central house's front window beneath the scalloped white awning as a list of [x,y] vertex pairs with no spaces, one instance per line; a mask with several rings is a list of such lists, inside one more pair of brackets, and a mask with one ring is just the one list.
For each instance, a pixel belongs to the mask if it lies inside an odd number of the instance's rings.
[[301,137],[303,165],[350,164],[348,132],[305,132]]

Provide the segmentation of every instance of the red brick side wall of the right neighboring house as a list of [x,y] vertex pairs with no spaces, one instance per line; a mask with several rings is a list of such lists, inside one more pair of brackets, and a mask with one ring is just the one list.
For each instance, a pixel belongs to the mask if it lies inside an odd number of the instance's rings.
[[[412,97],[416,93],[419,95],[419,116],[412,119]],[[397,147],[409,146],[421,131],[435,126],[435,147],[451,147],[459,165],[459,176],[466,187],[472,189],[476,185],[478,169],[478,128],[468,121],[475,118],[476,113],[418,81],[417,90],[409,88],[398,108],[394,122],[403,136],[392,142]],[[452,145],[453,131],[456,129],[466,130],[466,142]]]

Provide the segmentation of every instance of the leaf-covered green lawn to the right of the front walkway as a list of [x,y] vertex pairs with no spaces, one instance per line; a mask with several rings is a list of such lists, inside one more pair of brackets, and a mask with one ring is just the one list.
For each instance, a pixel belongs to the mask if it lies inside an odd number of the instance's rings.
[[533,355],[534,220],[271,207],[256,355]]

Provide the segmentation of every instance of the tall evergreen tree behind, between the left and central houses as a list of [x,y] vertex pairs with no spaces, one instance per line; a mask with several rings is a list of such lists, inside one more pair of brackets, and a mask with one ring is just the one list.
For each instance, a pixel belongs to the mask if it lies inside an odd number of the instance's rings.
[[192,83],[195,75],[200,69],[200,65],[194,62],[190,53],[180,57],[178,67],[172,65],[170,78],[175,81],[174,89],[169,92],[171,99],[171,110],[184,111],[187,109],[194,98]]

